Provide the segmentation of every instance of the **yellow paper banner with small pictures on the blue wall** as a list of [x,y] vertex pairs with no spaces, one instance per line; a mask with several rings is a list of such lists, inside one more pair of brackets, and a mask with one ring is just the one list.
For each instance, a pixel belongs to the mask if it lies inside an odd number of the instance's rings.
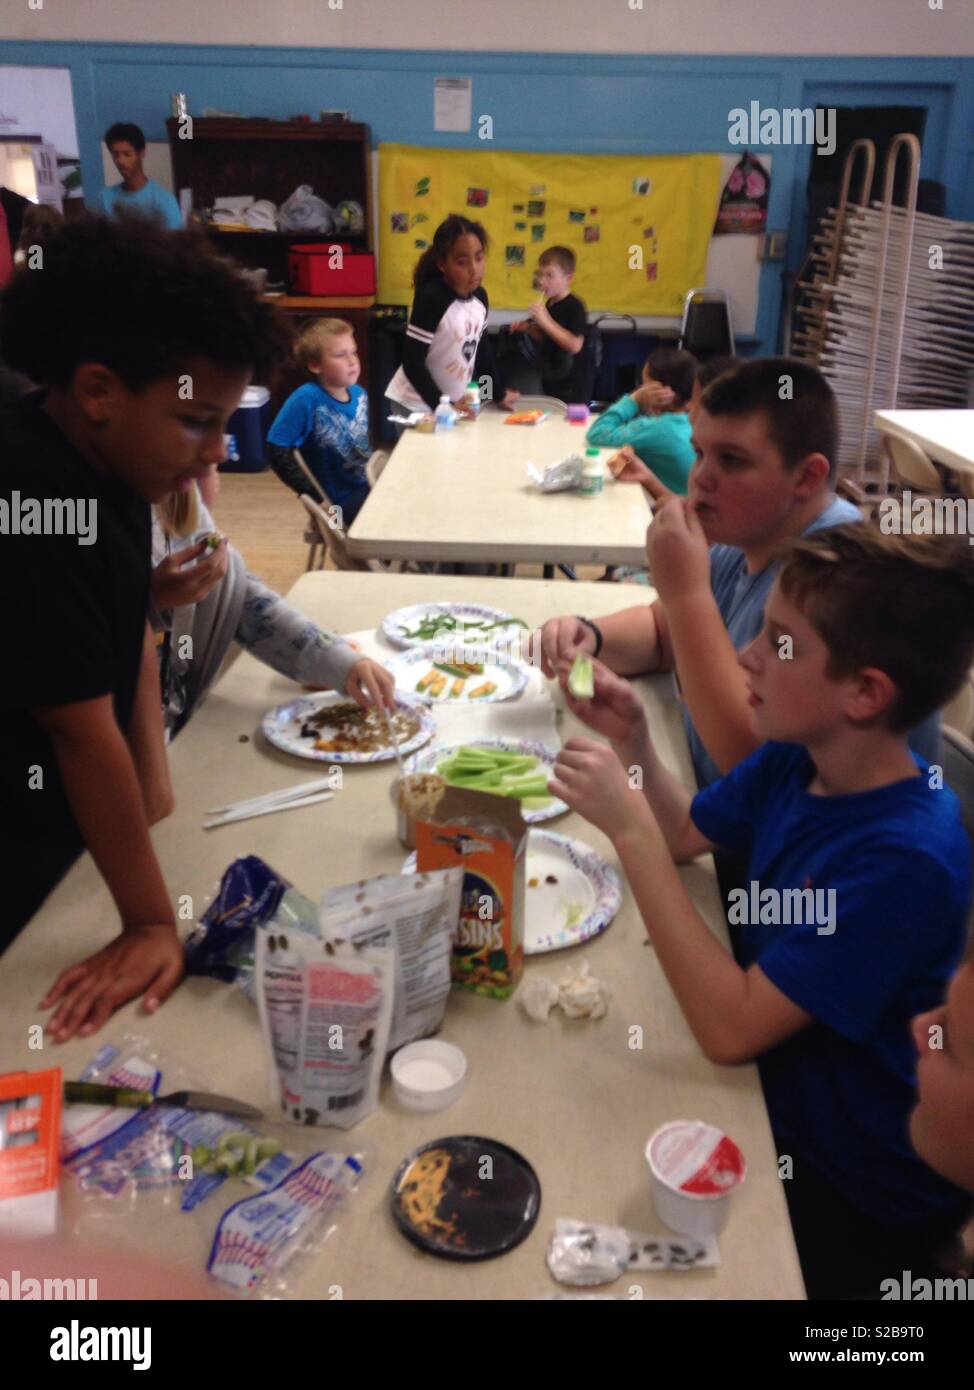
[[679,314],[706,284],[718,154],[545,154],[379,145],[379,299],[413,300],[413,268],[450,213],[489,236],[485,289],[527,309],[546,246],[570,246],[589,309]]

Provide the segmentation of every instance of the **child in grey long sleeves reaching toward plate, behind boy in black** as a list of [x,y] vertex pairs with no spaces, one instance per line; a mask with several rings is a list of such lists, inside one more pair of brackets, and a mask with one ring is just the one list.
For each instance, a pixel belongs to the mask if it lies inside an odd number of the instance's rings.
[[233,642],[292,681],[343,691],[363,709],[389,703],[395,681],[382,666],[324,632],[250,574],[225,537],[207,553],[215,530],[200,493],[213,500],[215,491],[213,468],[199,492],[174,492],[153,509],[149,616],[163,634],[167,734],[178,734],[188,721]]

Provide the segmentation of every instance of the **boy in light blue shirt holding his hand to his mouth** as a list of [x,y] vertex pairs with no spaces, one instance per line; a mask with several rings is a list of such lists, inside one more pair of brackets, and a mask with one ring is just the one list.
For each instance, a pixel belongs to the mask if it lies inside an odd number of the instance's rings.
[[[549,619],[542,670],[567,678],[575,652],[618,676],[675,671],[700,787],[757,746],[738,651],[761,627],[785,541],[861,520],[832,491],[838,406],[817,367],[792,357],[746,361],[717,377],[693,420],[688,498],[656,509],[647,534],[657,599],[599,619]],[[911,746],[936,762],[931,714]]]

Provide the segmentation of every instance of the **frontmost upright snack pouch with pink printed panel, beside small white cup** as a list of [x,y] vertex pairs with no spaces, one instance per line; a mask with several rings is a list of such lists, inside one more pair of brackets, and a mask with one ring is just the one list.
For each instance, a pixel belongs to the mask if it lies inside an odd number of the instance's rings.
[[257,1008],[288,1119],[352,1129],[375,1109],[395,980],[395,951],[338,955],[300,933],[257,931]]

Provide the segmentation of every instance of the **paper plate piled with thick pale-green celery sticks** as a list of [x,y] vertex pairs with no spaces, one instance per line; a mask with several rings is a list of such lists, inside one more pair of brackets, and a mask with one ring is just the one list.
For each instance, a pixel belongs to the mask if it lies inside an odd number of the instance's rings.
[[517,796],[529,826],[563,816],[568,808],[547,790],[557,749],[525,738],[478,738],[434,744],[407,759],[408,773],[439,773],[450,787]]

